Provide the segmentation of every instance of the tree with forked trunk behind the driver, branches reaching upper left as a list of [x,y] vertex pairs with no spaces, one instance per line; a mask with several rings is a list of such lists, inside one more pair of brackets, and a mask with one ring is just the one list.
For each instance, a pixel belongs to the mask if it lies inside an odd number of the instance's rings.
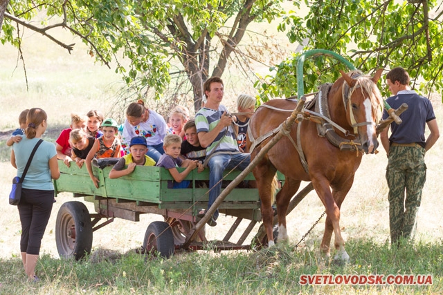
[[[209,76],[221,76],[228,59],[242,54],[237,46],[253,21],[271,21],[280,15],[281,1],[19,0],[10,3],[5,12],[1,41],[21,45],[16,23],[71,52],[75,44],[64,44],[51,35],[52,28],[66,28],[89,46],[89,54],[107,66],[113,59],[118,61],[117,54],[123,52],[131,64],[125,68],[118,63],[116,71],[139,93],[154,89],[158,98],[173,74],[184,73],[197,110],[203,82]],[[48,17],[61,20],[41,26],[30,23],[43,9]],[[228,21],[233,23],[228,26]],[[215,66],[211,68],[212,61]]]

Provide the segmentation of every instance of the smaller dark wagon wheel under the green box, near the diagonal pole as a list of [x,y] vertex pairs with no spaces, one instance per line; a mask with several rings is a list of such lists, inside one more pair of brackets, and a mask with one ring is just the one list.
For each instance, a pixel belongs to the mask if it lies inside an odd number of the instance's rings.
[[174,235],[168,222],[154,221],[147,227],[143,249],[145,249],[145,253],[156,251],[165,258],[174,254]]

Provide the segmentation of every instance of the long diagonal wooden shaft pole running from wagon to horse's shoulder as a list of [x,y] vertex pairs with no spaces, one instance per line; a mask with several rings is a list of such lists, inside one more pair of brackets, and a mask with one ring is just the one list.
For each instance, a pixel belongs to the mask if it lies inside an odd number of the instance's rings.
[[[293,110],[291,115],[286,119],[286,121],[282,123],[282,129],[284,129],[287,132],[291,131],[291,126],[293,125],[293,122],[296,120],[297,114],[300,113],[300,111],[302,110],[305,101],[306,98],[303,97],[298,101],[297,108]],[[213,216],[215,210],[217,210],[221,202],[223,202],[226,196],[228,196],[230,191],[235,189],[235,187],[237,187],[237,185],[240,182],[242,182],[244,178],[246,178],[246,175],[251,173],[254,167],[257,166],[258,162],[262,160],[264,155],[280,140],[280,138],[282,138],[283,136],[282,129],[280,129],[280,131],[278,131],[278,133],[275,134],[275,136],[272,138],[270,142],[268,142],[266,145],[262,147],[260,152],[257,153],[254,160],[251,161],[251,163],[246,167],[246,169],[244,169],[244,171],[242,171],[242,173],[240,173],[232,182],[230,182],[230,184],[228,184],[228,187],[226,187],[226,189],[224,189],[224,191],[220,193],[220,195],[215,200],[214,204],[206,211],[205,216],[201,218],[199,222],[197,222],[197,225],[195,225],[195,230],[191,231],[190,236],[183,243],[183,249],[188,249],[190,242],[195,238],[195,236],[197,236],[197,233],[200,231],[202,227],[204,227],[206,222],[208,222],[209,218]]]

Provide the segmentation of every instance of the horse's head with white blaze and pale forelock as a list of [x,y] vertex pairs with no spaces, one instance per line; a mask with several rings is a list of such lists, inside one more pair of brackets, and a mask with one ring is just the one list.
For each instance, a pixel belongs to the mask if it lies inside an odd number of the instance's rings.
[[363,75],[359,70],[348,74],[341,71],[345,83],[342,86],[343,104],[347,122],[358,134],[365,153],[374,153],[379,146],[375,126],[381,119],[383,99],[377,81],[383,69],[377,70],[374,77]]

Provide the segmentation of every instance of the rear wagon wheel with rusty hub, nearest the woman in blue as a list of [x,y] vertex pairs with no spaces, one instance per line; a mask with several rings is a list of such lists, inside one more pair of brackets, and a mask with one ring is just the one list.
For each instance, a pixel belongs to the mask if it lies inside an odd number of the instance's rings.
[[82,202],[66,202],[57,214],[55,243],[61,257],[80,260],[91,253],[92,223],[87,207]]

